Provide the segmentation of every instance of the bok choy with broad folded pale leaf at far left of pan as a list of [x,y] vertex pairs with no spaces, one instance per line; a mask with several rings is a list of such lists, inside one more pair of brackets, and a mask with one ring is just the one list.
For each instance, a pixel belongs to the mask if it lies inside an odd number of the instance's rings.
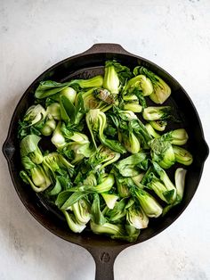
[[36,135],[25,136],[20,142],[20,156],[21,161],[28,157],[30,161],[40,164],[43,161],[43,154],[38,147],[38,142],[41,137]]

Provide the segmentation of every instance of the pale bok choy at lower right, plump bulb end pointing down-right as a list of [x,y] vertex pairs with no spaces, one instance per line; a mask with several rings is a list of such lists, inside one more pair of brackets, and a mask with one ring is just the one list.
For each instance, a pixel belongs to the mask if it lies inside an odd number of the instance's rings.
[[162,206],[149,193],[143,189],[133,188],[132,194],[140,202],[141,209],[149,218],[158,218],[162,214]]

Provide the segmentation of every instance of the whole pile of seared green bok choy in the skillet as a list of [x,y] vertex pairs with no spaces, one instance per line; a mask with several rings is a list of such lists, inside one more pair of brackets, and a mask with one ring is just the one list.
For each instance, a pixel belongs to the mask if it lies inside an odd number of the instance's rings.
[[88,226],[136,241],[149,218],[182,201],[182,165],[192,162],[181,147],[186,130],[167,129],[178,123],[163,105],[170,95],[150,70],[116,61],[105,63],[103,76],[40,82],[19,122],[20,177],[61,210],[71,231]]

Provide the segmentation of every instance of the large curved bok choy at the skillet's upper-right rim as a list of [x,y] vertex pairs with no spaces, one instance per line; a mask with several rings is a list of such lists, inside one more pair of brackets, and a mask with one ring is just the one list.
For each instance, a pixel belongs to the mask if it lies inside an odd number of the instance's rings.
[[145,67],[137,66],[133,70],[134,75],[142,74],[150,79],[153,86],[153,93],[149,95],[149,98],[158,104],[165,103],[166,99],[171,95],[171,88],[166,82],[154,74],[152,71],[147,70]]

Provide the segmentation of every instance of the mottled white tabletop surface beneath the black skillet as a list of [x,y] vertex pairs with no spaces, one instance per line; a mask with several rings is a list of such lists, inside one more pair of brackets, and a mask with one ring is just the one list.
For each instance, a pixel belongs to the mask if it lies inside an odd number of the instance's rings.
[[[209,0],[1,0],[0,144],[20,95],[45,69],[94,43],[121,44],[158,63],[189,93],[210,143]],[[117,280],[210,279],[210,161],[198,192],[162,234],[117,257]],[[0,279],[91,280],[87,251],[30,216],[0,160]]]

